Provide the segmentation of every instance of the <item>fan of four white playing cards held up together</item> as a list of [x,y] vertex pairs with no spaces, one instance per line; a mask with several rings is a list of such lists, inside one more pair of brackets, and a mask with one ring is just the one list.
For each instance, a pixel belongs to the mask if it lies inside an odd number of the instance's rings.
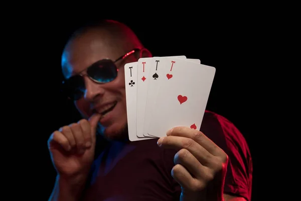
[[215,67],[186,56],[125,64],[129,140],[164,137],[177,126],[200,130],[214,75]]

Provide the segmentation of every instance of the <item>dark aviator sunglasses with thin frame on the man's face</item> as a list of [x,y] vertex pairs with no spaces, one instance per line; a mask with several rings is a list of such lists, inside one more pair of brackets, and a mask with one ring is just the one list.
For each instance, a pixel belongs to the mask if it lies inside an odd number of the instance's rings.
[[[100,84],[113,81],[117,77],[118,72],[116,62],[139,50],[140,49],[133,49],[115,61],[112,61],[111,59],[99,60],[85,69],[85,75],[88,76],[92,81]],[[69,79],[64,80],[62,83],[62,92],[67,95],[69,99],[80,99],[84,95],[85,90],[85,81],[83,75],[81,74],[74,75]]]

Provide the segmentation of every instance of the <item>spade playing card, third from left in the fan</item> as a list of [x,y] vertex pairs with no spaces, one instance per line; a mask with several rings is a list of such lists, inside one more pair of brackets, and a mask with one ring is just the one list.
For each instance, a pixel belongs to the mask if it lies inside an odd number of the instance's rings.
[[[153,65],[150,66],[149,69],[149,75],[148,77],[152,77],[152,79],[149,79],[148,81],[148,86],[147,86],[147,95],[145,98],[145,112],[144,112],[144,117],[143,117],[143,136],[144,137],[155,137],[147,134],[148,130],[148,125],[150,122],[150,118],[152,117],[153,112],[157,112],[155,108],[155,102],[156,98],[158,95],[158,91],[160,87],[162,86],[160,81],[161,79],[166,79],[166,70],[165,68],[170,68],[169,63],[166,63],[167,57],[157,57],[156,59],[153,60]],[[194,62],[194,63],[201,63],[200,59],[185,59],[181,58],[184,60],[187,60],[189,62]],[[160,75],[160,79],[158,76]]]

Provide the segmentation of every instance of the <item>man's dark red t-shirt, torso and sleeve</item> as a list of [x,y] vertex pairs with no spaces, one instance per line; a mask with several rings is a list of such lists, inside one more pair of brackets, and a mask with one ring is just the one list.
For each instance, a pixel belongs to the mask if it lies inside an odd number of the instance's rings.
[[[229,156],[224,192],[251,199],[252,159],[238,129],[224,117],[206,111],[202,131]],[[179,200],[181,186],[171,176],[175,150],[158,139],[112,142],[95,159],[83,200]]]

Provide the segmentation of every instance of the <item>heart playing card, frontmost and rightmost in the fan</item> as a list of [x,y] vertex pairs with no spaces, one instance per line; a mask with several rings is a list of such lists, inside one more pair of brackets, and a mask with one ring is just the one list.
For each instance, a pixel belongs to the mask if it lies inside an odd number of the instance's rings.
[[215,68],[178,58],[165,58],[165,62],[164,79],[145,132],[163,137],[176,126],[200,130]]

